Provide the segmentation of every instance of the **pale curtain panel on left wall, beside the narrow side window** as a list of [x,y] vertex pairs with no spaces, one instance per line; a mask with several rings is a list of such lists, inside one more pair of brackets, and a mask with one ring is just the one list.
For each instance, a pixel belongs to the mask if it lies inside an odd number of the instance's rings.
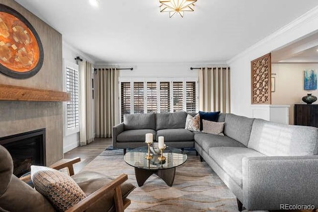
[[79,63],[79,139],[80,145],[94,141],[92,111],[92,65],[88,61]]

